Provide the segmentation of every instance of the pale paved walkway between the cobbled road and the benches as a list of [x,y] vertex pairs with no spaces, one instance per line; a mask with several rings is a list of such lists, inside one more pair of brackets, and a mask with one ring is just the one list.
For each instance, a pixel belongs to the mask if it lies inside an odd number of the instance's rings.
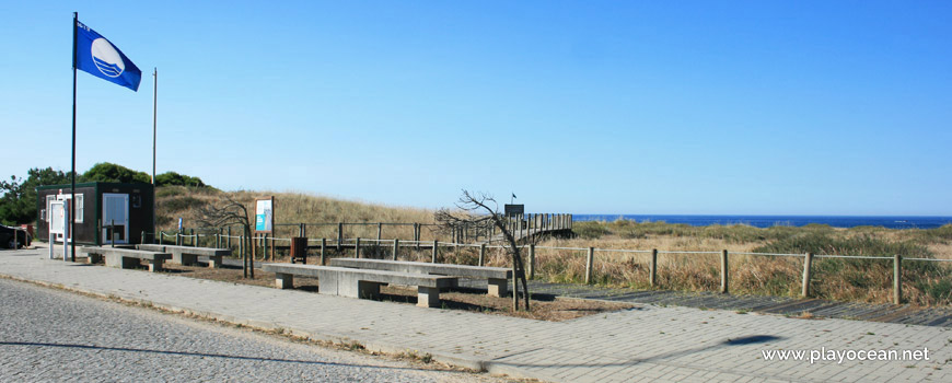
[[[952,381],[943,327],[653,305],[552,323],[48,260],[44,249],[0,252],[0,275],[544,381]],[[764,355],[924,348],[929,360],[811,364]]]

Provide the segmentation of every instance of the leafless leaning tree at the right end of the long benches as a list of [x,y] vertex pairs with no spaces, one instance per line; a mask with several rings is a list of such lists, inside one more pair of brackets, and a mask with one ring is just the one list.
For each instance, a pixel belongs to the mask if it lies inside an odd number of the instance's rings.
[[446,227],[496,227],[506,243],[509,244],[509,253],[512,258],[512,310],[519,310],[519,285],[522,283],[522,292],[525,301],[525,311],[530,311],[529,304],[529,283],[525,281],[525,267],[522,263],[522,255],[519,245],[515,243],[515,237],[506,227],[506,223],[500,218],[499,204],[491,196],[483,193],[469,193],[463,189],[463,195],[456,201],[456,207],[463,212],[454,213],[446,209],[440,209],[436,213],[437,222]]

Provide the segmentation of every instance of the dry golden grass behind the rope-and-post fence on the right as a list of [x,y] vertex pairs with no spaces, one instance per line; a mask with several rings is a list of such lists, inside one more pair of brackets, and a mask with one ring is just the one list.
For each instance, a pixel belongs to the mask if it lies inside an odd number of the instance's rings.
[[[952,258],[952,227],[933,230],[883,228],[757,229],[687,227],[630,221],[585,222],[579,237],[549,240],[539,246],[596,247],[730,253],[790,253]],[[594,281],[605,286],[648,289],[648,254],[596,252]],[[582,282],[584,251],[536,249],[536,276],[557,282]],[[659,254],[660,288],[717,291],[720,256],[717,254]],[[798,297],[803,272],[802,257],[731,255],[730,290],[736,293]],[[952,303],[952,265],[908,260],[903,263],[903,294],[919,305]],[[841,301],[886,303],[892,300],[891,259],[814,258],[812,294]]]

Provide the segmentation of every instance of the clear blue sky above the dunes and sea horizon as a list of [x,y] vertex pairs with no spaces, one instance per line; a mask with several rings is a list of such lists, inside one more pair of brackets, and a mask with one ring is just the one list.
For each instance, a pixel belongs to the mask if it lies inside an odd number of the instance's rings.
[[[18,1],[0,175],[69,170],[71,20],[142,69],[80,72],[77,169],[527,211],[952,216],[948,1]],[[25,143],[8,139],[27,137]]]

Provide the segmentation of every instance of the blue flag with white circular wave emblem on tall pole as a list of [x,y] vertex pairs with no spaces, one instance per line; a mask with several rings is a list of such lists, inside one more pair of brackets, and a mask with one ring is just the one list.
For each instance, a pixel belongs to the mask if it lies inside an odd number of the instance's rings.
[[113,43],[76,22],[76,67],[86,73],[116,84],[139,90],[142,71]]

